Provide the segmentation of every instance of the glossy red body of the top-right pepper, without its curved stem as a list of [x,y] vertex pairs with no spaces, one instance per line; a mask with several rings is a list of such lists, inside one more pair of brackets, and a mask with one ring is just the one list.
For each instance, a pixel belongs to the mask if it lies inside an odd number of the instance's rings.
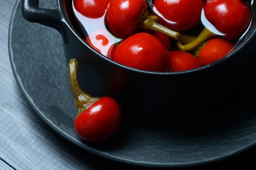
[[241,37],[250,25],[250,8],[241,0],[207,0],[204,13],[207,20],[229,40]]

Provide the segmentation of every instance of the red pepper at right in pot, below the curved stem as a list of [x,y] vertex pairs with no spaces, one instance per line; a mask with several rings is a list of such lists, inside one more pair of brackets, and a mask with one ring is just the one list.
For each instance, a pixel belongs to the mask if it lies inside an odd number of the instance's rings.
[[224,38],[212,38],[198,54],[201,65],[207,65],[226,56],[234,48],[233,42]]

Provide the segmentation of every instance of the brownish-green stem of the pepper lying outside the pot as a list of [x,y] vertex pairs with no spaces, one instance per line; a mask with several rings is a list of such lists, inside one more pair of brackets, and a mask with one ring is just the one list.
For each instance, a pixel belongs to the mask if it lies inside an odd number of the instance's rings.
[[78,82],[78,61],[76,59],[70,59],[68,63],[69,69],[69,80],[70,80],[70,88],[75,97],[76,107],[82,108],[84,104],[86,104],[92,96],[84,93],[81,89]]

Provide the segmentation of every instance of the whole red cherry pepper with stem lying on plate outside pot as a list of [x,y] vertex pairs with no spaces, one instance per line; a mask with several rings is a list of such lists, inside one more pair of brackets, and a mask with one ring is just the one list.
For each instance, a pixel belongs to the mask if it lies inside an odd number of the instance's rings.
[[78,61],[69,62],[70,88],[79,108],[74,127],[77,135],[87,142],[108,139],[119,128],[121,108],[111,97],[92,97],[82,91],[78,82]]

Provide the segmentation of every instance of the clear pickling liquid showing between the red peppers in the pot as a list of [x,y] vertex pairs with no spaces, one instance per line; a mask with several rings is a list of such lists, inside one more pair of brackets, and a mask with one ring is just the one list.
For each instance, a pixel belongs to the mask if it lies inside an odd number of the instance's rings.
[[[154,0],[147,0],[149,13],[152,14],[152,11],[154,11],[156,14],[161,16],[161,14],[154,7],[153,2],[154,2]],[[247,6],[249,6],[251,8],[251,11],[253,13],[253,6],[255,6],[254,0],[248,0],[245,3],[247,3]],[[81,35],[81,37],[87,37],[87,39],[90,40],[90,42],[92,43],[89,45],[95,45],[95,46],[98,45],[99,47],[97,46],[97,48],[100,48],[99,52],[101,54],[105,55],[106,57],[110,57],[109,56],[110,48],[113,45],[121,42],[122,39],[115,37],[113,34],[111,34],[111,32],[108,30],[107,26],[105,25],[106,11],[105,11],[105,14],[100,18],[95,19],[95,18],[85,17],[84,15],[82,15],[81,13],[79,13],[76,10],[76,8],[74,7],[73,1],[72,1],[72,10],[75,14],[76,19],[80,23],[81,29],[83,30],[83,35]],[[168,21],[168,22],[172,22],[172,21]],[[252,22],[252,20],[251,20],[251,22]],[[175,22],[173,22],[173,23],[175,23]],[[252,23],[250,23],[250,26],[251,26],[251,24]],[[247,28],[247,31],[245,31],[244,34],[239,38],[239,40],[234,40],[234,43],[235,43],[234,48],[236,48],[244,40],[248,31],[250,30],[250,26]],[[219,37],[224,36],[224,34],[222,34],[211,23],[209,23],[209,21],[207,20],[207,18],[204,15],[204,9],[201,12],[201,23],[198,24],[198,26],[195,26],[195,28],[191,28],[190,30],[184,31],[184,33],[192,35],[192,36],[198,36],[198,34],[203,30],[204,27],[206,27],[209,31],[212,31],[214,34],[216,34]],[[99,34],[103,35],[107,39],[108,43],[104,44],[103,40],[101,40],[100,38],[97,38],[97,36]],[[104,45],[102,45],[102,44],[104,44]],[[175,47],[175,44],[176,43],[173,40],[173,45],[172,45],[173,50],[177,50],[177,48]],[[194,51],[188,51],[188,52],[193,54]]]

